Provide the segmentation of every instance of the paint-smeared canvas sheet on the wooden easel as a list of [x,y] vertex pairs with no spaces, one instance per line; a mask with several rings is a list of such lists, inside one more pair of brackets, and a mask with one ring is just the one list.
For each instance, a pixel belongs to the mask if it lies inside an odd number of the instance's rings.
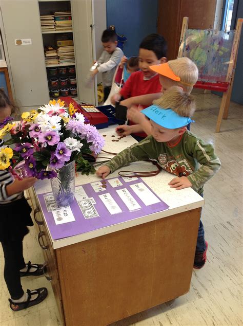
[[198,81],[226,81],[233,45],[234,31],[187,29],[183,57],[188,57],[198,67]]

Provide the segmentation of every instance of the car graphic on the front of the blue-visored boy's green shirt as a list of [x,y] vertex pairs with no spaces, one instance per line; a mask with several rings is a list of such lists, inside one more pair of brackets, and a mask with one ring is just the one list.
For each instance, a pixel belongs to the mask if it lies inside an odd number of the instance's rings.
[[188,176],[192,174],[192,170],[186,159],[177,161],[174,157],[168,158],[166,153],[159,154],[158,161],[161,167],[169,173],[177,176]]

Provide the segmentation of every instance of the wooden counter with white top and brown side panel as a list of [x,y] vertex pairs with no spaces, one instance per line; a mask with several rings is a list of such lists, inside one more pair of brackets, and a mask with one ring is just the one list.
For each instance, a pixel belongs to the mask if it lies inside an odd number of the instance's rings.
[[[114,151],[114,127],[100,133],[106,135],[105,150]],[[134,142],[123,138],[115,143],[116,151]],[[154,166],[137,162],[129,169],[149,171]],[[144,178],[168,210],[60,240],[53,240],[37,198],[51,191],[49,180],[29,190],[45,274],[66,325],[107,325],[189,291],[204,199],[191,188],[171,189],[172,177],[162,171]],[[95,175],[79,174],[76,185],[96,180]]]

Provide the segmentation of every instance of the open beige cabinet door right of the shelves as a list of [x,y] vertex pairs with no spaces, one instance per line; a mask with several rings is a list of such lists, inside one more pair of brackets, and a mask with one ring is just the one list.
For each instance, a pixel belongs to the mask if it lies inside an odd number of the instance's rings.
[[[78,99],[97,104],[96,78],[87,87],[86,78],[95,58],[92,0],[71,0]],[[91,25],[91,27],[90,27]]]

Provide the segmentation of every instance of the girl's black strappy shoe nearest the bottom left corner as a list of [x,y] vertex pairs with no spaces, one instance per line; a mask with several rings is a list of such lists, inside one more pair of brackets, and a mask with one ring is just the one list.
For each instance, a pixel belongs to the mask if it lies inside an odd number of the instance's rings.
[[[25,302],[13,302],[11,299],[8,299],[10,302],[10,308],[13,311],[23,310],[28,307],[31,307],[32,305],[36,305],[42,302],[47,297],[48,291],[46,287],[40,287],[32,291],[28,289],[27,293],[28,293],[28,299]],[[35,294],[38,295],[37,298],[34,300],[30,300],[31,296]]]

